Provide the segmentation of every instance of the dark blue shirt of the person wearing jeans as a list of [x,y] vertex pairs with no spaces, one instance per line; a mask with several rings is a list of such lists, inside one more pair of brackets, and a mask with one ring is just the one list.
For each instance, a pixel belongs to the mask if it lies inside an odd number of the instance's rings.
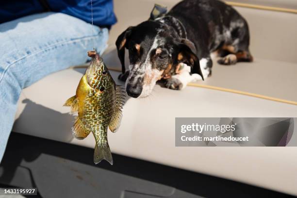
[[[47,0],[50,11],[60,12],[91,23],[90,0]],[[92,0],[93,22],[97,26],[116,23],[113,0]],[[43,12],[39,0],[0,0],[0,23]]]

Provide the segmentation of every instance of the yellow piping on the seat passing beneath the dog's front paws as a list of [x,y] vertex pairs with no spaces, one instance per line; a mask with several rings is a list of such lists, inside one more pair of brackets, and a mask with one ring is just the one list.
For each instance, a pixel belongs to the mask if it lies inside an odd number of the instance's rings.
[[[85,68],[85,67],[87,67],[87,66],[76,66],[75,68]],[[121,72],[120,69],[115,69],[115,68],[109,68],[109,70]],[[205,84],[197,84],[197,83],[188,83],[188,86],[194,86],[194,87],[200,87],[200,88],[206,88],[206,89],[214,89],[214,90],[218,90],[218,91],[230,92],[230,93],[234,93],[234,94],[241,94],[241,95],[260,98],[260,99],[267,99],[267,100],[272,100],[272,101],[276,101],[276,102],[297,105],[296,101],[279,99],[279,98],[274,98],[274,97],[269,97],[269,96],[263,96],[260,94],[254,94],[254,93],[239,91],[239,90],[235,90],[235,89],[228,89],[228,88],[223,88],[223,87],[217,87],[217,86],[211,86],[211,85],[205,85]]]

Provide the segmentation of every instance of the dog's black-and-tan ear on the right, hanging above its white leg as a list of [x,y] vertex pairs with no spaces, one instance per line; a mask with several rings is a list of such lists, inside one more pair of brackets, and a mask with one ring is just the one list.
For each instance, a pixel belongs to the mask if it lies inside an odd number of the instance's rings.
[[[189,41],[189,40],[187,40],[187,41]],[[191,41],[189,41],[189,42],[191,42]],[[189,44],[190,44],[190,47],[188,46]],[[196,51],[196,47],[194,44],[193,45],[192,44],[193,44],[192,42],[187,43],[187,44],[185,44],[184,42],[181,42],[178,44],[177,62],[178,63],[186,63],[187,65],[190,65],[191,73],[199,74],[202,77],[202,80],[204,81],[203,74],[201,72],[201,68],[200,68],[200,64],[199,64],[199,58],[193,52],[193,50]],[[193,50],[191,48],[193,48]]]

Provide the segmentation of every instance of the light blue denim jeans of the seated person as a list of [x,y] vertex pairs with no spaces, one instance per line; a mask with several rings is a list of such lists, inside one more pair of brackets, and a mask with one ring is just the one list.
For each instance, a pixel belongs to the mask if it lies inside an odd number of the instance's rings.
[[[61,13],[25,16],[0,24],[0,161],[21,90],[52,72],[87,61],[87,50],[107,47],[108,29]],[[20,148],[21,149],[21,148]]]

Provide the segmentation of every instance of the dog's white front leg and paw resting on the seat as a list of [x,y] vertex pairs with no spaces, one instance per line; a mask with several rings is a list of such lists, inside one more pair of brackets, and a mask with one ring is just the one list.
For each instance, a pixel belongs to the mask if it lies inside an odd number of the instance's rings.
[[181,70],[178,74],[166,79],[165,87],[169,89],[181,90],[187,86],[189,82],[202,80],[199,74],[191,74],[191,67],[184,63],[180,63]]

